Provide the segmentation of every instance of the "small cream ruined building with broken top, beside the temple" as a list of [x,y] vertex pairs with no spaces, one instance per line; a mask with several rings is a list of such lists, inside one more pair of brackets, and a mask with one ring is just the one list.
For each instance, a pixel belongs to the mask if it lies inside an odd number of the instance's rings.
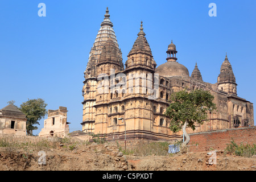
[[59,107],[57,110],[48,110],[48,118],[44,120],[44,127],[39,137],[67,137],[69,134],[69,122],[67,122],[67,107]]

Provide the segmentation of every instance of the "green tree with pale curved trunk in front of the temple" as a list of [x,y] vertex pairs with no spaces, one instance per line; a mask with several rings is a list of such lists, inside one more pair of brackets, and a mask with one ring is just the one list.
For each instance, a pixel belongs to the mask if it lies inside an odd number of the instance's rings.
[[209,91],[196,89],[188,92],[187,89],[172,93],[171,104],[167,107],[166,115],[171,118],[170,129],[174,133],[182,129],[185,141],[181,147],[185,147],[190,137],[186,132],[186,127],[196,129],[196,123],[203,124],[207,120],[208,111],[216,110],[213,103],[214,96]]

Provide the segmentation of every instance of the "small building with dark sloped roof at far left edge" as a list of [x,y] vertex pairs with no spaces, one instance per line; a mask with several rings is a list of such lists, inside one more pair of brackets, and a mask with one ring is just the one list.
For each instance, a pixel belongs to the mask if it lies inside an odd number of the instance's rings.
[[0,110],[0,134],[26,136],[26,115],[14,105],[7,105]]

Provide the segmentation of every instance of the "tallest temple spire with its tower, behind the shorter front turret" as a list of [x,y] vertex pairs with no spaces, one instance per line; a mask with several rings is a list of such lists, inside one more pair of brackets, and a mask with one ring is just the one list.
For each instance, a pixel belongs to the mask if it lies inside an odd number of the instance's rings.
[[[89,53],[89,60],[84,72],[84,86],[82,88],[82,96],[84,96],[83,105],[83,117],[82,117],[82,130],[88,132],[93,132],[95,123],[96,110],[94,105],[96,104],[96,89],[97,89],[97,76],[98,74],[98,64],[100,61],[100,56],[102,50],[105,50],[105,43],[113,43],[115,50],[115,55],[117,55],[118,63],[121,65],[121,70],[123,69],[122,63],[122,52],[119,49],[117,38],[113,30],[113,23],[110,21],[110,15],[108,7],[106,9],[105,18],[101,23],[100,30],[96,36],[93,43],[93,47]],[[108,43],[106,43],[108,44]]]

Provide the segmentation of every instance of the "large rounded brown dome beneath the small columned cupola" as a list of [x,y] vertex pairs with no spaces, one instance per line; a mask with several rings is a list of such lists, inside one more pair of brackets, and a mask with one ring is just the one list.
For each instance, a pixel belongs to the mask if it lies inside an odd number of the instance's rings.
[[159,67],[155,69],[155,73],[164,77],[189,76],[188,69],[176,61],[167,61],[166,63],[159,65]]

